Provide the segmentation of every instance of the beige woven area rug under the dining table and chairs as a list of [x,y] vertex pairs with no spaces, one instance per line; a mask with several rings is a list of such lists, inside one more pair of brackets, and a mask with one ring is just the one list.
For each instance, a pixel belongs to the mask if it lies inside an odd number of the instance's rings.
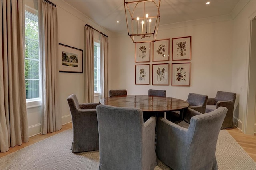
[[[98,170],[99,152],[71,152],[72,129],[1,158],[1,170]],[[256,163],[226,130],[216,148],[219,170],[256,170]],[[155,170],[170,170],[158,160]]]

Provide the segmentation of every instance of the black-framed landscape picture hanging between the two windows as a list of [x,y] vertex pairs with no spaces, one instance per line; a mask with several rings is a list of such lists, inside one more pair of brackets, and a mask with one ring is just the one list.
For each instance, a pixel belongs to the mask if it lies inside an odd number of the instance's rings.
[[59,72],[83,73],[83,50],[59,43]]

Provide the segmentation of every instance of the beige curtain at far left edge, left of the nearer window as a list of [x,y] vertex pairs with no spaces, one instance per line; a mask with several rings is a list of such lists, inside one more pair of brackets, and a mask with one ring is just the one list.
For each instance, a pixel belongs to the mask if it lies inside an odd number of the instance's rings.
[[28,142],[25,89],[24,1],[2,0],[0,48],[0,150]]

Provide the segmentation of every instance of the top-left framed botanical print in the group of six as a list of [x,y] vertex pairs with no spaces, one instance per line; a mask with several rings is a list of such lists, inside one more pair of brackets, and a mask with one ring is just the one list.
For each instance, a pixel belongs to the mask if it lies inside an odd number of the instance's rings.
[[144,63],[150,61],[150,42],[135,44],[135,63]]

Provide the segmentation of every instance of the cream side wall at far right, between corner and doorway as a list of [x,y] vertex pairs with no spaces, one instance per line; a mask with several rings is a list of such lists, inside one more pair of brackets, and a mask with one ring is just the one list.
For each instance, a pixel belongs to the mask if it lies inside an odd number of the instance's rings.
[[[234,117],[242,129],[246,113],[248,87],[248,59],[250,40],[250,18],[256,16],[256,1],[250,1],[234,19],[232,47],[232,91],[237,93]],[[242,87],[242,91],[241,91]],[[254,119],[253,117],[248,119]]]

